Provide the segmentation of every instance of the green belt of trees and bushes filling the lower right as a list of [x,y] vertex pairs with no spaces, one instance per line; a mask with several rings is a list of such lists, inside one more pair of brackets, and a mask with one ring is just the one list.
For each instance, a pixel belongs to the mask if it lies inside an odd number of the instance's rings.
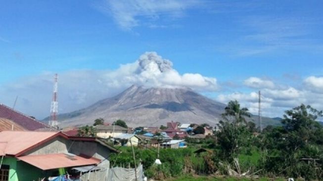
[[[161,149],[162,165],[154,165],[155,148],[136,148],[136,158],[141,160],[148,178],[176,178],[169,181],[235,181],[238,179],[195,176],[243,173],[264,177],[259,179],[262,181],[276,177],[323,178],[323,127],[317,122],[322,111],[301,104],[285,111],[281,126],[268,126],[261,132],[246,121],[248,116],[247,108],[230,101],[215,136],[186,138],[188,147],[184,149]],[[194,153],[199,148],[205,148],[205,152]],[[111,163],[133,166],[131,149],[113,155]]]

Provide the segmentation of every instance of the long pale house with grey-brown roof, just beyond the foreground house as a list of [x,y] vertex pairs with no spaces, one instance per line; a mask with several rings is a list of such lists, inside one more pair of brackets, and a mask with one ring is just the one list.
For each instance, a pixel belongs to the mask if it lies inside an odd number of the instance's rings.
[[115,137],[122,134],[127,134],[128,129],[118,125],[97,125],[95,126],[96,136],[101,138]]

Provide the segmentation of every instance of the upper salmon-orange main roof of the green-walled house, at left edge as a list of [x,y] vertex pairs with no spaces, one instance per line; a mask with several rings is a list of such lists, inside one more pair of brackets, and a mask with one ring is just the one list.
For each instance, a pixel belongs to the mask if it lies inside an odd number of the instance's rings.
[[16,155],[25,149],[34,146],[58,132],[28,132],[28,131],[3,131],[0,132],[0,142],[7,142],[5,150],[7,155]]

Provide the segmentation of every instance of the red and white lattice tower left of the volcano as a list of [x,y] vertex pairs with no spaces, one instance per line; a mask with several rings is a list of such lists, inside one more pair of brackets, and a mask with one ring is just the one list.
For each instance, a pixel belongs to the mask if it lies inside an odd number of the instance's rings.
[[58,122],[56,118],[56,114],[58,112],[58,102],[57,102],[57,74],[54,76],[54,88],[53,88],[53,98],[50,104],[50,120],[48,121],[48,125],[52,127],[57,127]]

